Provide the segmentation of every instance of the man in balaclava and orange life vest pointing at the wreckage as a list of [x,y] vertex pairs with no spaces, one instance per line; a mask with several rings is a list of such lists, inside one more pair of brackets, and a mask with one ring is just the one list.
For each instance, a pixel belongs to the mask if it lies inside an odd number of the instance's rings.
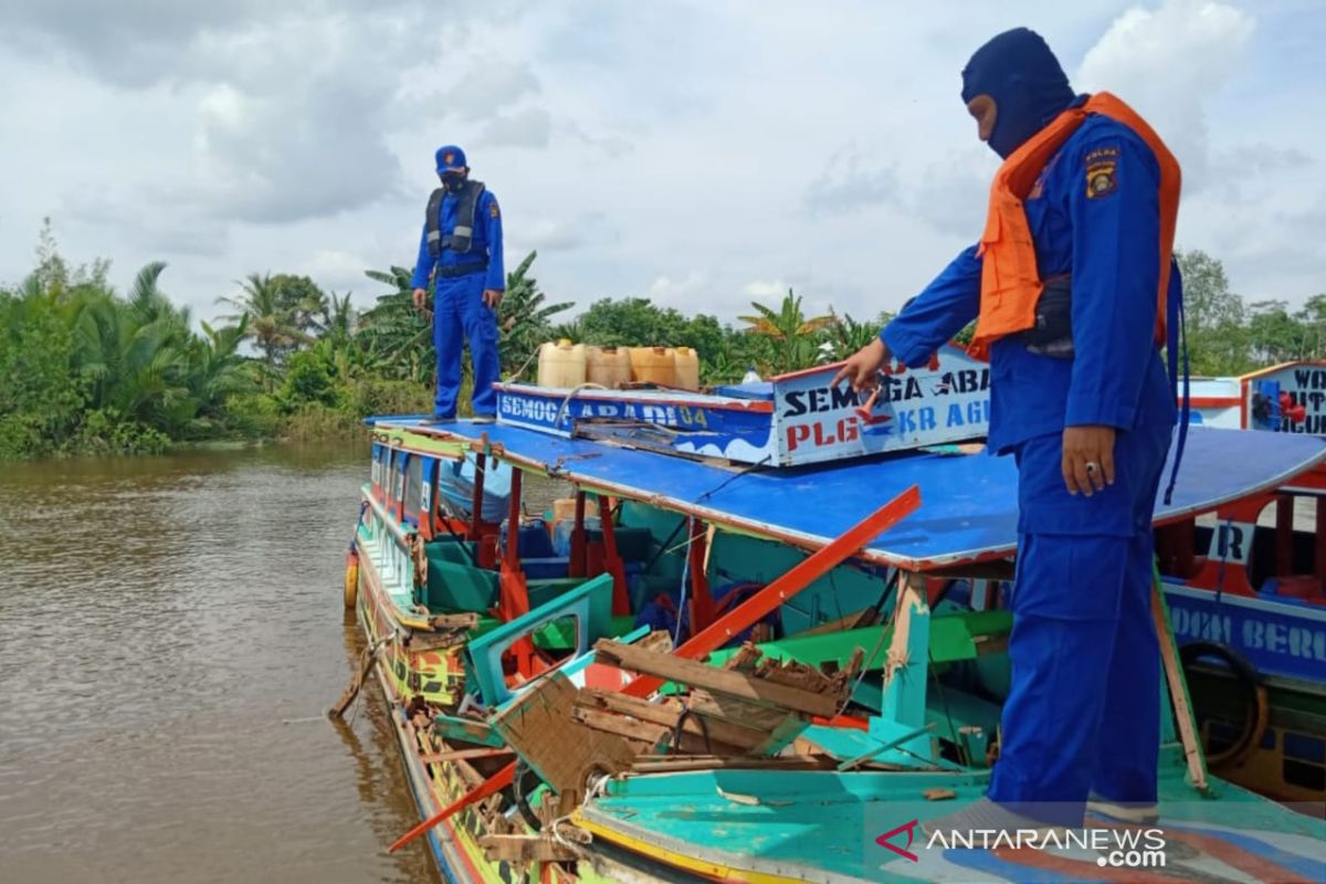
[[963,101],[1001,158],[981,241],[838,374],[923,364],[977,319],[989,449],[1018,467],[1013,680],[987,798],[927,830],[1151,818],[1159,652],[1151,513],[1175,423],[1160,358],[1179,164],[1122,101],[1074,95],[1020,28],[981,46]]

